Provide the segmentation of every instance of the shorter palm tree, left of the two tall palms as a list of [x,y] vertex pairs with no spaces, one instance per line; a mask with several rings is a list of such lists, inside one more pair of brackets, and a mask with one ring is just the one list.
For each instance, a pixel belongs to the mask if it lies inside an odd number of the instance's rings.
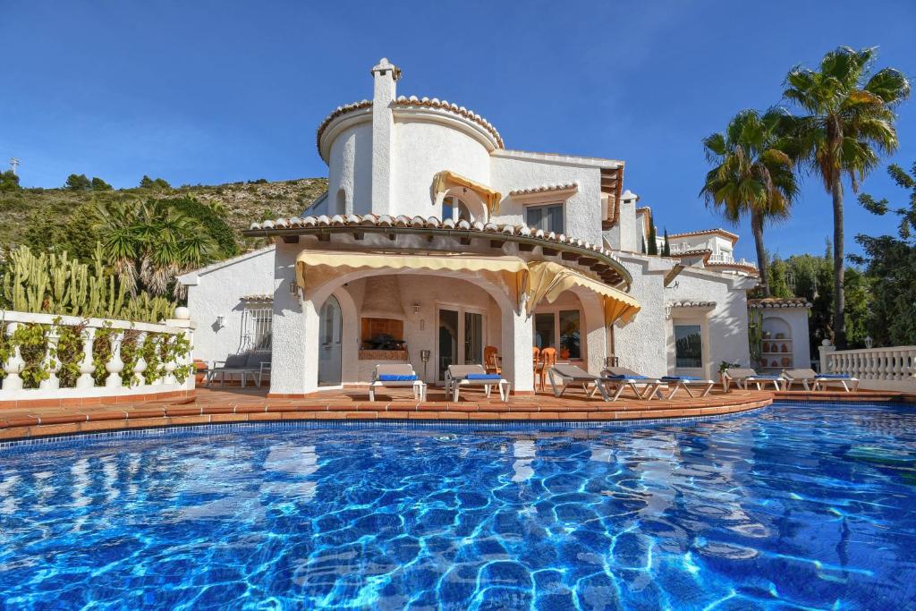
[[763,227],[768,221],[786,218],[798,192],[792,160],[783,150],[786,120],[786,113],[780,109],[770,109],[764,115],[744,110],[728,123],[724,134],[703,139],[706,158],[714,168],[706,173],[700,194],[707,205],[719,208],[732,224],[750,217],[760,286],[767,297]]

